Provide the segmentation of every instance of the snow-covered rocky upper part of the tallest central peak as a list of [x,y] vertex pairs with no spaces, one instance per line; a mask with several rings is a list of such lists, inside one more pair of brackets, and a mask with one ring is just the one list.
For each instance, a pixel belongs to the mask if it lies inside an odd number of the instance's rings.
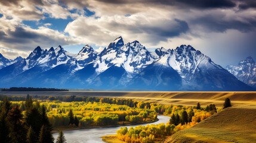
[[95,64],[98,73],[107,70],[113,65],[124,67],[128,73],[138,73],[138,71],[153,63],[157,58],[138,41],[123,44],[123,39],[119,37],[110,43],[106,50],[103,50],[106,53],[102,54],[103,52],[101,52],[102,56]]

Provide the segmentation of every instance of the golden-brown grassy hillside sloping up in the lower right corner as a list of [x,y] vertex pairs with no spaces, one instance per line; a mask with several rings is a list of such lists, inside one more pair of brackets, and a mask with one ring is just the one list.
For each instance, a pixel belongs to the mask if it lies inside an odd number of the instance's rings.
[[227,108],[165,142],[254,142],[256,105]]

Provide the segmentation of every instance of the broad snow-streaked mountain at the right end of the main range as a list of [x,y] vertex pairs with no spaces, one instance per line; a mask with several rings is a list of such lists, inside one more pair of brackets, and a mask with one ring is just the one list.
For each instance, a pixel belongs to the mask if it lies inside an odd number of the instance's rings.
[[171,66],[180,74],[183,79],[181,89],[221,91],[246,88],[232,74],[190,45],[181,45],[174,50],[162,52],[165,54],[157,62]]

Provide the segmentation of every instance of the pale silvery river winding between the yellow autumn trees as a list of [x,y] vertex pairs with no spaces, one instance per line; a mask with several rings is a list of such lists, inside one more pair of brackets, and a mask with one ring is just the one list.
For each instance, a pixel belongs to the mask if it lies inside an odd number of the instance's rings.
[[[159,124],[159,123],[167,123],[169,122],[169,117],[167,116],[158,116],[158,121],[150,124]],[[147,125],[147,124],[143,124]],[[138,126],[138,125],[134,125]],[[132,126],[132,127],[134,127]],[[128,126],[131,127],[131,126]],[[95,128],[95,129],[78,129],[78,130],[66,130],[63,131],[67,142],[103,142],[101,140],[101,136],[104,135],[113,135],[116,134],[116,130],[120,129],[121,126],[118,127],[108,127],[108,128]],[[58,133],[53,134],[56,139]]]

